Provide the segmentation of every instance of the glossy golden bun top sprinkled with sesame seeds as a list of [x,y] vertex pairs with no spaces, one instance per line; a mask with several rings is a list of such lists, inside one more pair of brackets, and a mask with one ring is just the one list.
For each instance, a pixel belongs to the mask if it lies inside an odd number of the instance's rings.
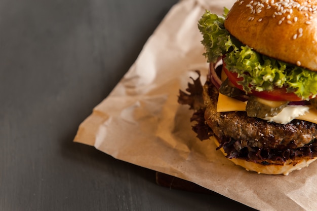
[[238,0],[224,26],[259,53],[317,71],[316,0]]

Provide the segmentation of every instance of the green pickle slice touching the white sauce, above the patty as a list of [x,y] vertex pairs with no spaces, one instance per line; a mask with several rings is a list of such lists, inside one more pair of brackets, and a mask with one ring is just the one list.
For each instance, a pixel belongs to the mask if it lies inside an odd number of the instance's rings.
[[272,101],[251,96],[246,111],[249,117],[273,117],[278,115],[288,105],[288,101]]

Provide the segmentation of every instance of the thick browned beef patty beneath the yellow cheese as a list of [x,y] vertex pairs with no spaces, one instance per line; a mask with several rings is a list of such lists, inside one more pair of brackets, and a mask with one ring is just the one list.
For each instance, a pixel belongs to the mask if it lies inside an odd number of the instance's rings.
[[206,82],[203,93],[205,121],[220,140],[230,137],[240,140],[241,147],[284,150],[303,147],[317,137],[317,125],[303,120],[278,124],[248,117],[246,112],[218,113],[218,95],[217,88]]

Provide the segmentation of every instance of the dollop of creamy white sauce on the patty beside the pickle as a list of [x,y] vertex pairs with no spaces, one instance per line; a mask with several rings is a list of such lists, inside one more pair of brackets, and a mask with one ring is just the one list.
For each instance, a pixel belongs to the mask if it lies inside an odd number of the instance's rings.
[[282,112],[274,117],[265,117],[264,120],[268,122],[276,122],[280,124],[286,124],[296,119],[296,117],[304,115],[308,112],[309,107],[307,105],[288,105]]

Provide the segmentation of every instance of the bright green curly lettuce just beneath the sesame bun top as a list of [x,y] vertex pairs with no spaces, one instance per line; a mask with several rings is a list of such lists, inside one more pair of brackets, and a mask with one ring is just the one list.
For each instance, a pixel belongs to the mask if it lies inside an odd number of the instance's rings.
[[[224,16],[226,13],[227,10]],[[224,28],[224,17],[206,11],[198,27],[208,62],[225,55],[226,68],[243,78],[239,84],[246,93],[286,87],[287,92],[294,92],[303,100],[317,95],[317,72],[270,58],[243,45]]]

